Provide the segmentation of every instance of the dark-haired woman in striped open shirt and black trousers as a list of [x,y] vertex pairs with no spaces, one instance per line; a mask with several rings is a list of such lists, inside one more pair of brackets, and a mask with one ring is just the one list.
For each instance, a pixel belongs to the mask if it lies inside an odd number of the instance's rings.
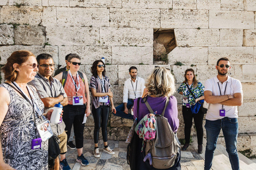
[[110,155],[114,155],[115,152],[108,147],[108,134],[107,123],[109,117],[109,107],[111,111],[116,112],[113,103],[113,93],[110,90],[109,78],[106,76],[105,64],[101,60],[93,62],[91,67],[92,77],[90,83],[90,89],[92,92],[92,114],[94,118],[94,151],[93,155],[96,158],[100,157],[98,141],[100,126],[102,130],[104,148],[103,151]]

